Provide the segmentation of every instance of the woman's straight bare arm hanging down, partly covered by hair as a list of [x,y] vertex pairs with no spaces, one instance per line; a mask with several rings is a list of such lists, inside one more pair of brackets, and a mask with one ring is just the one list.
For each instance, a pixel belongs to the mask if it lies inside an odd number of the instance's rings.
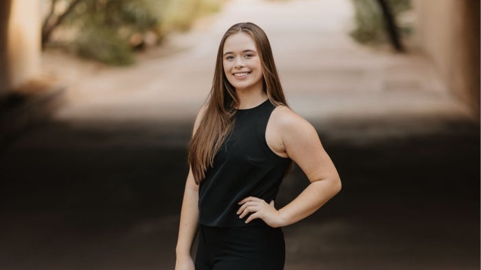
[[[197,114],[197,118],[194,123],[194,131],[197,132],[197,128],[201,122],[205,107],[202,107]],[[177,238],[176,261],[175,270],[194,270],[194,262],[192,256],[190,256],[190,249],[192,248],[192,242],[194,242],[195,235],[197,234],[197,225],[199,223],[199,185],[194,181],[194,175],[192,175],[192,169],[189,169],[189,174],[186,180],[186,188],[183,192],[181,217],[179,223],[179,237]]]

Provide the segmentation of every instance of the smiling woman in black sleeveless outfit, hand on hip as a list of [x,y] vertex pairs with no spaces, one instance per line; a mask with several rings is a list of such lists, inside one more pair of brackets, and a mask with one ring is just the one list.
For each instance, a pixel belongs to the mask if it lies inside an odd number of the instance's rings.
[[[280,228],[309,216],[341,188],[317,132],[287,106],[269,40],[253,23],[233,25],[221,40],[188,161],[177,270],[283,269]],[[311,184],[276,209],[292,161]]]

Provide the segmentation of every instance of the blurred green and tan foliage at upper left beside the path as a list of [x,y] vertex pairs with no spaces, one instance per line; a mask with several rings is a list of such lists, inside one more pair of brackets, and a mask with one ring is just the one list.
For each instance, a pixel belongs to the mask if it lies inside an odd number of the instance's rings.
[[43,44],[55,43],[85,58],[125,65],[134,62],[136,49],[157,45],[172,31],[189,29],[199,16],[219,10],[224,0],[44,1],[49,2],[49,12]]

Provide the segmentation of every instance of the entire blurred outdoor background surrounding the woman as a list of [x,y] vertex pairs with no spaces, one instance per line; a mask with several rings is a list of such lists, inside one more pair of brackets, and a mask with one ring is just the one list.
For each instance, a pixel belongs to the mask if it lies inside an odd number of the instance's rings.
[[[480,1],[5,0],[0,269],[173,269],[225,30],[269,36],[343,190],[285,269],[480,269]],[[295,167],[276,201],[309,184]]]

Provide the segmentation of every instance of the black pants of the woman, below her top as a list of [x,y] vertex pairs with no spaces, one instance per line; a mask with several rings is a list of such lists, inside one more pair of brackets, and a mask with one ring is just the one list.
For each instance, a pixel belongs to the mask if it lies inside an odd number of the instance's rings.
[[199,224],[196,270],[282,270],[284,260],[284,234],[280,228]]

